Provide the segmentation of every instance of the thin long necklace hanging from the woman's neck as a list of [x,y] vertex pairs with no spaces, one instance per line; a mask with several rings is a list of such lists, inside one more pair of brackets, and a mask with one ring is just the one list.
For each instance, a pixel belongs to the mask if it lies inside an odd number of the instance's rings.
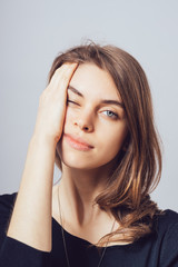
[[[63,226],[62,226],[62,215],[61,215],[61,206],[60,206],[60,198],[59,198],[59,188],[58,188],[58,207],[59,207],[60,228],[61,228],[61,233],[62,233],[62,240],[63,240],[66,259],[67,259],[68,267],[70,267],[69,256],[68,256],[68,250],[67,250],[67,244],[66,244],[66,238],[65,238],[65,231],[63,231]],[[111,231],[110,231],[110,233],[112,233],[112,230],[113,230],[115,222],[116,222],[116,220],[115,220],[113,224],[112,224],[112,227],[111,227]],[[100,267],[100,266],[101,266],[101,261],[102,261],[102,259],[103,259],[103,256],[105,256],[105,253],[106,253],[108,243],[109,243],[109,238],[108,238],[108,241],[107,241],[107,244],[106,244],[106,247],[103,248],[102,255],[101,255],[101,257],[100,257],[100,260],[99,260],[99,264],[98,264],[97,267]]]

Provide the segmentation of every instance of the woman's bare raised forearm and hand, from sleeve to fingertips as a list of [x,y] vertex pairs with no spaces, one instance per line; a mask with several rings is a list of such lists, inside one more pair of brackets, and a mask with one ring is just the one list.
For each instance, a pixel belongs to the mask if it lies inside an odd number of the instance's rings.
[[18,197],[7,236],[42,251],[51,251],[52,182],[56,146],[66,113],[67,86],[77,65],[58,69],[40,96]]

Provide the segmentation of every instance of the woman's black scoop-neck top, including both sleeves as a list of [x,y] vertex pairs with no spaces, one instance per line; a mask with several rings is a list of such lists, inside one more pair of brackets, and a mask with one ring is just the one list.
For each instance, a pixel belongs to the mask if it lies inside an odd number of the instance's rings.
[[[0,267],[67,267],[60,225],[52,218],[52,250],[38,250],[7,237],[17,194],[0,196]],[[71,267],[97,267],[100,255],[89,241],[65,230]],[[134,244],[108,247],[101,267],[178,267],[178,214],[165,210],[155,228]]]

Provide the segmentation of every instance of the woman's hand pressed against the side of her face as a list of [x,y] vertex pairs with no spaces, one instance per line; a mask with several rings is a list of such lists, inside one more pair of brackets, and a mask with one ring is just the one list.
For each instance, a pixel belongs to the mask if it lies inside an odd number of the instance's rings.
[[67,88],[77,63],[65,63],[56,70],[40,96],[34,136],[59,141],[66,116]]

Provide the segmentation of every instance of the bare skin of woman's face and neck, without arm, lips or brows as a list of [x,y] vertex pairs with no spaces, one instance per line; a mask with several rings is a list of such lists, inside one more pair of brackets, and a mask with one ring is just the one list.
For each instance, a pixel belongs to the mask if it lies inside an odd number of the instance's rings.
[[[65,228],[92,244],[108,234],[113,222],[109,211],[102,211],[92,204],[105,188],[115,157],[128,132],[123,108],[101,103],[103,99],[121,102],[110,75],[92,63],[79,66],[69,83],[63,132],[57,145],[62,161],[62,179],[53,190],[53,217],[60,222],[59,190]],[[81,137],[93,148],[88,151],[75,149],[65,134]]]

